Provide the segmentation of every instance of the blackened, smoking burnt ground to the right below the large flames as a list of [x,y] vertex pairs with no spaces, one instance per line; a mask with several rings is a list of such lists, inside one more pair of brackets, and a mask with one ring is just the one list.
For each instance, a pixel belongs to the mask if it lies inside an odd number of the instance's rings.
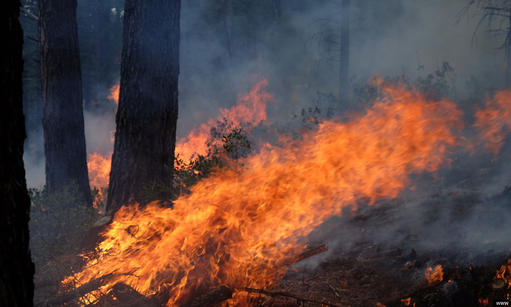
[[[308,237],[311,247],[329,243],[331,249],[290,268],[271,291],[360,307],[505,300],[505,287],[491,284],[511,258],[511,189],[502,184],[509,176],[499,177],[508,158],[454,161],[443,173],[418,176],[416,187],[398,199],[347,209]],[[443,279],[429,284],[425,271],[437,265]],[[262,296],[257,306],[297,303],[320,305]]]

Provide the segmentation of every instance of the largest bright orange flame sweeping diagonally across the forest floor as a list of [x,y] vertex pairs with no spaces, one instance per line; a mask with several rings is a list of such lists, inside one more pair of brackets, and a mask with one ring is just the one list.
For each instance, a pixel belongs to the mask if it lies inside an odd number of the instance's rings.
[[304,237],[328,217],[359,198],[395,198],[409,173],[449,163],[463,126],[455,104],[394,85],[383,93],[351,122],[323,122],[302,140],[267,144],[246,158],[246,169],[218,171],[172,209],[123,207],[97,257],[65,283],[113,273],[105,290],[125,282],[170,298],[168,306],[225,284],[235,290],[231,304],[242,305],[240,289],[271,287],[286,272],[278,262],[303,250]]

